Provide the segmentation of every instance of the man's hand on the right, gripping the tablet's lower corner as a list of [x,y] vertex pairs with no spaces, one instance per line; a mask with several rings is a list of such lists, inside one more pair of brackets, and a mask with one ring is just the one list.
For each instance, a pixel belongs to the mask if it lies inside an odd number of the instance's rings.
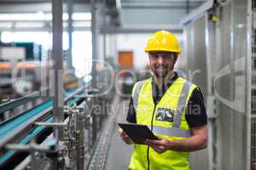
[[158,137],[158,140],[150,140],[146,139],[145,144],[150,146],[153,150],[155,150],[157,153],[162,154],[166,152],[166,150],[170,150],[172,141],[167,139],[160,139]]

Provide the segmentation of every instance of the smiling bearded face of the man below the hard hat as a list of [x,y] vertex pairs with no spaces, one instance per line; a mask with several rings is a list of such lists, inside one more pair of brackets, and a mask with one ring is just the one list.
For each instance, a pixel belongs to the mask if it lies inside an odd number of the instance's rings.
[[177,54],[167,52],[149,53],[149,64],[154,75],[158,78],[165,78],[173,70]]

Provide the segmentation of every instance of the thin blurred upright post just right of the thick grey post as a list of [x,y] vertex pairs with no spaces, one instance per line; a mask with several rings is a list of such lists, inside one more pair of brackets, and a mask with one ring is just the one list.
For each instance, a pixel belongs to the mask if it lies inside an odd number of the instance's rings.
[[73,39],[72,39],[72,33],[73,33],[73,0],[67,0],[67,14],[68,14],[68,26],[67,26],[67,32],[68,32],[68,56],[67,56],[67,66],[68,69],[73,69],[73,55],[72,55],[72,48],[73,48]]

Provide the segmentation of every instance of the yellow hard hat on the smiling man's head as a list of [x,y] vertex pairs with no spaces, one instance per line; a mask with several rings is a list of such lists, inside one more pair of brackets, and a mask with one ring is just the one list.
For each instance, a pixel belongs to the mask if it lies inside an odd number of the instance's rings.
[[173,36],[170,31],[156,31],[154,35],[148,39],[148,43],[144,51],[146,53],[163,51],[181,54],[177,38]]

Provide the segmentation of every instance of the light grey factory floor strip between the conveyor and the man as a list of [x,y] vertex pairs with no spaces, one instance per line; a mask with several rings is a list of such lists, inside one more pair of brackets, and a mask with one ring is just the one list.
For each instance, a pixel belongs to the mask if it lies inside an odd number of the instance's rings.
[[[129,99],[122,99],[118,95],[113,100],[111,114],[116,122],[125,122]],[[114,125],[113,136],[108,150],[107,170],[128,169],[131,158],[132,145],[125,144],[118,134],[118,127]]]

